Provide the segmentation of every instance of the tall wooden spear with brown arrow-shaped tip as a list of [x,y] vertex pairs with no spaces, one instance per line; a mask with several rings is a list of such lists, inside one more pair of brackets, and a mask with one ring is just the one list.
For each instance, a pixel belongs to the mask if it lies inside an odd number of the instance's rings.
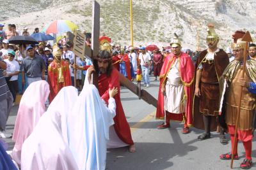
[[[248,44],[250,42],[252,42],[252,37],[250,35],[250,32],[247,31],[246,34],[244,34],[243,38],[242,38],[242,41],[246,41],[246,46],[245,46],[245,49],[244,49],[244,53],[243,53],[243,71],[242,71],[242,74],[243,74],[243,78],[244,78],[244,73],[245,73],[245,69],[246,69],[246,56],[247,56],[247,52],[248,52]],[[237,127],[238,127],[238,123],[239,123],[239,117],[240,117],[240,110],[241,110],[241,100],[242,100],[242,94],[243,94],[243,86],[241,86],[241,89],[240,89],[240,93],[239,93],[239,103],[238,103],[238,111],[237,111],[237,117],[236,117],[236,131],[235,131],[235,138],[234,138],[234,143],[236,143],[236,140],[237,140]],[[233,162],[234,162],[234,150],[236,148],[236,145],[234,144],[233,146],[233,153],[232,156],[231,156],[231,163],[230,163],[230,168],[233,169]]]

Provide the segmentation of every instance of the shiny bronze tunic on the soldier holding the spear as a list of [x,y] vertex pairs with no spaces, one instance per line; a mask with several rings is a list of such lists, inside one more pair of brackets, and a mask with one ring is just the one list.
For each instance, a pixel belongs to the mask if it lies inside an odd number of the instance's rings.
[[[237,85],[239,78],[242,78],[242,69],[238,69],[235,78],[230,84],[227,96],[227,113],[226,113],[226,123],[227,125],[236,125],[236,117],[239,105],[239,97],[241,86]],[[250,78],[244,74],[246,81],[252,81]],[[255,95],[248,92],[246,88],[243,88],[243,95],[241,100],[241,110],[239,117],[238,129],[242,131],[248,131],[252,129],[253,122],[253,109],[255,108]]]

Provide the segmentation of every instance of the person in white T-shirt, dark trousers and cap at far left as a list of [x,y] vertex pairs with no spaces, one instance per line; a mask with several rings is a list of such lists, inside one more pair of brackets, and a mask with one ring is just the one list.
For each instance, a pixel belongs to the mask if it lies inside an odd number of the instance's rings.
[[13,105],[14,105],[16,94],[19,90],[18,74],[20,73],[20,66],[19,66],[19,62],[14,60],[14,57],[15,57],[14,51],[10,51],[8,55],[9,55],[9,58],[4,60],[7,66],[6,70],[4,71],[4,76],[6,79],[6,83],[10,89],[10,92],[12,93]]

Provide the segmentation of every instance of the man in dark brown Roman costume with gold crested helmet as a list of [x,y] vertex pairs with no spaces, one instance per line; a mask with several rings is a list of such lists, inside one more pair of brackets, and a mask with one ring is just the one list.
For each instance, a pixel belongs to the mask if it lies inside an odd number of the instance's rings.
[[[218,48],[218,35],[213,25],[208,25],[207,45],[209,48],[202,51],[196,62],[196,84],[199,91],[194,96],[193,102],[193,125],[205,132],[198,136],[204,140],[211,137],[210,131],[216,131],[219,100],[219,80],[229,60],[228,55]],[[196,92],[195,89],[195,92]],[[223,132],[220,136],[221,143],[227,143]]]

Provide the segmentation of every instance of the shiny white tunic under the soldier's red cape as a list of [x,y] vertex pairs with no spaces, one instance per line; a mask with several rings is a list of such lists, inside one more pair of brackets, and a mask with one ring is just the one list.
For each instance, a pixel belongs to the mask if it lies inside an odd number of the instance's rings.
[[165,110],[170,113],[185,113],[186,100],[184,85],[180,79],[179,60],[175,60],[166,81],[166,97],[164,99]]

